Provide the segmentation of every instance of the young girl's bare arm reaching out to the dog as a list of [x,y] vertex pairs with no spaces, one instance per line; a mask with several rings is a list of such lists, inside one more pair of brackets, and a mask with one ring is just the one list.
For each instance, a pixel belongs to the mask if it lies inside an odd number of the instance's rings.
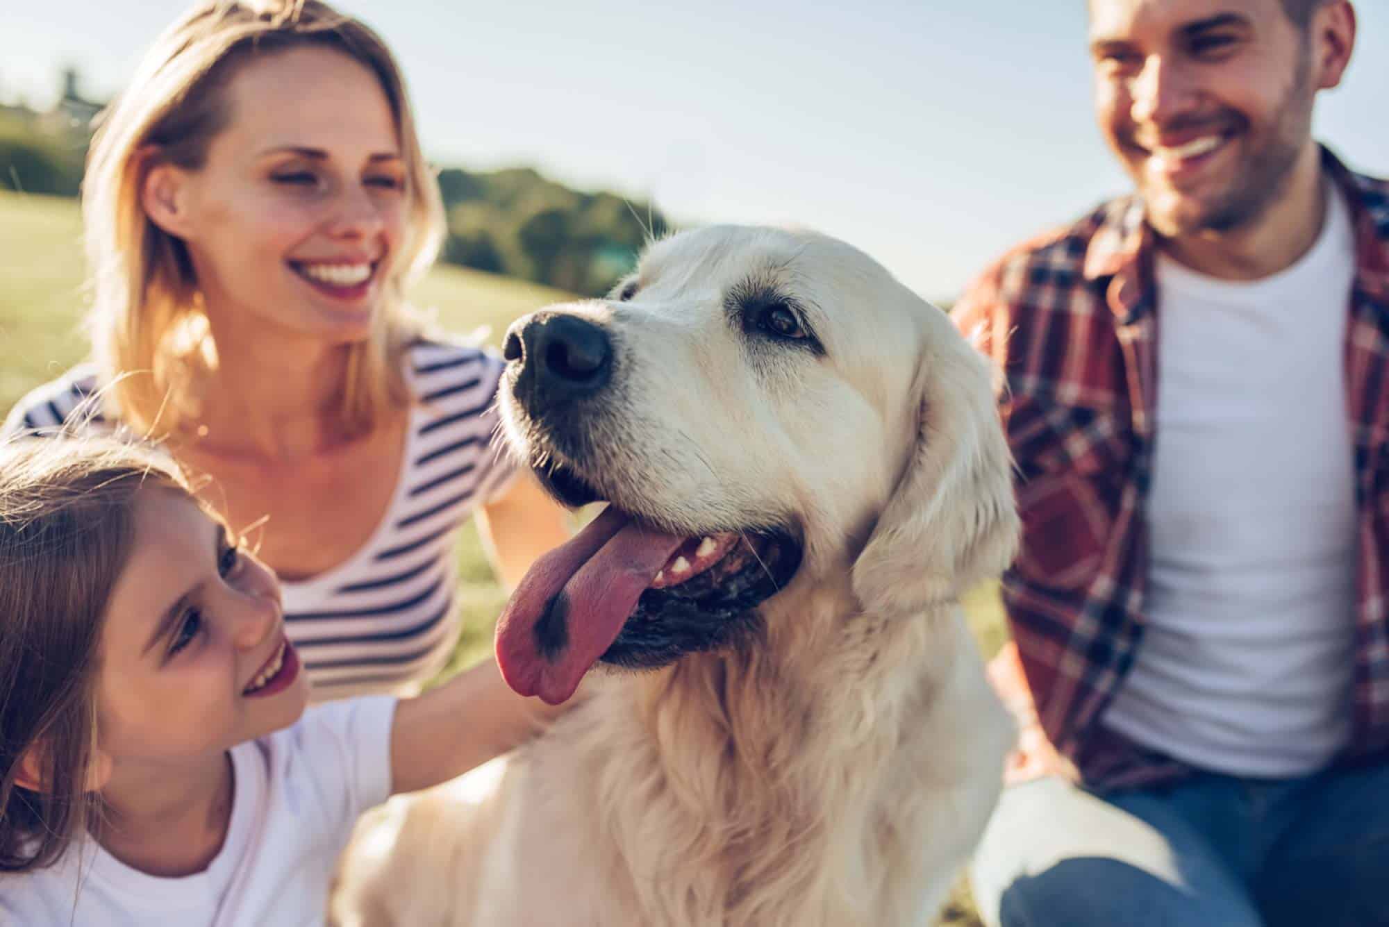
[[517,695],[494,659],[396,706],[390,791],[410,792],[461,776],[544,730],[575,702],[546,705]]

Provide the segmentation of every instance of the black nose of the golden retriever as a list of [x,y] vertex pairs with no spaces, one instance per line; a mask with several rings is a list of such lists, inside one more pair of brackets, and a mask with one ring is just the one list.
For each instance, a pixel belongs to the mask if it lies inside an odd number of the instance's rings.
[[611,339],[578,315],[528,315],[507,332],[503,357],[519,361],[517,393],[528,404],[592,396],[613,375]]

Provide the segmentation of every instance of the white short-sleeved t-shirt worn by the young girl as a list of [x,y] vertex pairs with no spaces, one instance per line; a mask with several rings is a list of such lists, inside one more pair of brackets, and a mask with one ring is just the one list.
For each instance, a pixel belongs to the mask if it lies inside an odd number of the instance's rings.
[[0,923],[321,926],[357,817],[390,795],[394,709],[385,695],[329,702],[233,747],[232,816],[206,870],[147,876],[86,840],[49,869],[0,876]]

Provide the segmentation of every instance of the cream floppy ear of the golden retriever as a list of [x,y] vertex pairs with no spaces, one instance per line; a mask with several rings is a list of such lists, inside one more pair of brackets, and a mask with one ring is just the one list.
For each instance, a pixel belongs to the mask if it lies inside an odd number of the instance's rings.
[[854,563],[854,594],[871,613],[958,598],[1017,552],[1013,458],[989,362],[947,321],[933,328],[914,386],[915,445]]

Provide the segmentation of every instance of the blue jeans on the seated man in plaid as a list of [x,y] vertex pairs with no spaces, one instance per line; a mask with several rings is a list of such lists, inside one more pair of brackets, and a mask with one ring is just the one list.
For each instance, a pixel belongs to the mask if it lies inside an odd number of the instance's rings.
[[970,870],[990,927],[1389,924],[1389,765],[1003,792]]

